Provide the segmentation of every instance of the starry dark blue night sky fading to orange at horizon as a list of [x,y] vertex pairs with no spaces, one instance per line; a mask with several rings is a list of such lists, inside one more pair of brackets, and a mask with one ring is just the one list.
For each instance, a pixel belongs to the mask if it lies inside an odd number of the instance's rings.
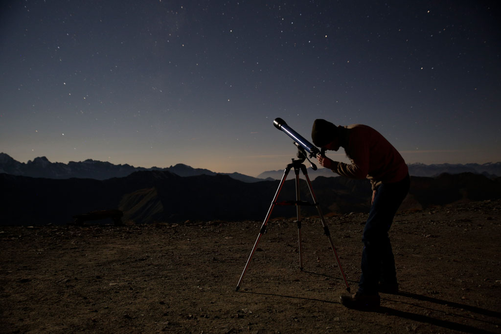
[[277,117],[309,140],[316,118],[369,125],[407,163],[501,161],[496,2],[0,6],[0,151],[18,161],[257,176],[296,156]]

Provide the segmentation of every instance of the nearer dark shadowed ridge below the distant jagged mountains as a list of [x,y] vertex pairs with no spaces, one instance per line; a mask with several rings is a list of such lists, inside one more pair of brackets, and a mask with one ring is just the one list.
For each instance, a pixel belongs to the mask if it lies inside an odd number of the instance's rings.
[[[65,224],[74,215],[119,209],[135,223],[261,220],[271,205],[278,180],[242,182],[228,175],[181,177],[169,171],[137,171],[106,180],[49,179],[0,174],[0,225]],[[372,191],[368,180],[319,176],[312,186],[325,215],[367,213]],[[306,181],[301,199],[312,202]],[[295,180],[282,187],[278,202],[296,198]],[[501,198],[501,178],[461,173],[435,178],[411,177],[401,209],[422,209],[461,200]],[[302,207],[304,216],[317,215]],[[294,206],[276,206],[273,217],[295,217]]]

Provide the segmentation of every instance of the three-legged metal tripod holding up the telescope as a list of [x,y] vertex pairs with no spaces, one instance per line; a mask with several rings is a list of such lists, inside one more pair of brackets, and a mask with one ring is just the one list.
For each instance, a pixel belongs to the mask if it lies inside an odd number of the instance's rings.
[[[315,206],[317,208],[318,214],[320,216],[320,219],[322,221],[322,226],[324,227],[325,234],[327,235],[327,238],[329,239],[329,243],[331,244],[332,251],[334,253],[334,256],[336,257],[336,260],[339,265],[339,269],[341,270],[341,274],[343,276],[343,279],[346,284],[346,290],[350,292],[350,286],[348,285],[348,281],[346,280],[346,276],[343,271],[343,267],[341,266],[341,262],[339,261],[338,254],[336,252],[336,248],[334,247],[334,243],[332,242],[331,234],[329,231],[329,226],[327,226],[327,223],[325,221],[324,215],[322,214],[322,211],[320,209],[320,204],[317,201],[317,197],[315,196],[315,193],[313,192],[313,187],[310,182],[310,178],[308,177],[308,171],[306,170],[305,165],[303,164],[306,157],[306,152],[303,148],[301,148],[299,145],[298,146],[298,158],[299,159],[292,159],[292,163],[287,165],[287,168],[284,171],[284,176],[282,177],[282,180],[280,181],[279,187],[277,189],[277,192],[275,193],[275,197],[273,198],[272,204],[270,205],[270,209],[268,209],[268,213],[266,215],[265,221],[263,222],[263,225],[261,226],[261,230],[259,232],[258,238],[256,239],[256,242],[254,243],[254,247],[252,249],[252,252],[250,252],[250,255],[247,259],[247,263],[245,263],[245,267],[243,268],[242,274],[240,275],[240,279],[238,280],[238,284],[236,284],[236,291],[240,288],[240,283],[242,282],[243,276],[245,276],[245,272],[247,271],[247,268],[250,264],[250,260],[252,259],[254,252],[258,248],[258,243],[261,239],[261,236],[266,233],[266,225],[268,224],[268,220],[270,219],[270,216],[272,214],[273,208],[275,205],[296,205],[296,213],[297,213],[297,222],[298,222],[298,244],[299,244],[299,268],[303,270],[303,252],[301,250],[301,205],[307,205],[307,206]],[[308,160],[309,161],[309,160]],[[311,162],[310,162],[311,163]],[[316,170],[316,166],[312,164],[312,167],[314,170]],[[291,169],[294,168],[294,173],[296,174],[296,200],[295,201],[285,201],[285,202],[277,202],[277,198],[279,197],[280,191],[282,190],[282,187],[284,185],[284,182],[287,178],[287,175],[291,171]],[[303,172],[303,175],[306,178],[306,182],[308,184],[308,188],[310,189],[311,196],[313,198],[313,204],[305,201],[301,201],[300,199],[300,191],[299,191],[299,170]]]

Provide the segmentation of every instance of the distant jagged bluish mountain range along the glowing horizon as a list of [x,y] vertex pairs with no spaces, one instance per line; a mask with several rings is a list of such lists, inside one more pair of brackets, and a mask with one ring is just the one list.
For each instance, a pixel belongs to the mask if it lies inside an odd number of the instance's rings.
[[[408,164],[409,174],[411,176],[425,176],[435,177],[442,173],[459,174],[459,173],[473,173],[483,174],[487,177],[493,178],[501,176],[501,162],[485,163],[485,164],[433,164],[425,165],[421,163]],[[128,164],[114,165],[109,162],[97,161],[87,159],[85,161],[74,162],[70,161],[68,164],[61,162],[50,162],[46,157],[37,157],[33,161],[27,163],[19,162],[13,159],[6,153],[0,153],[0,173],[30,176],[30,177],[45,177],[50,179],[69,179],[76,178],[90,178],[96,180],[105,180],[112,177],[125,177],[137,171],[168,171],[179,176],[196,176],[196,175],[228,175],[232,179],[243,182],[259,182],[266,179],[280,180],[284,175],[284,170],[266,171],[252,177],[240,173],[216,173],[208,169],[192,168],[184,164],[176,164],[167,168],[159,167],[134,167]],[[337,176],[331,170],[326,168],[319,168],[314,171],[308,168],[308,176],[314,180],[318,176],[333,177]]]

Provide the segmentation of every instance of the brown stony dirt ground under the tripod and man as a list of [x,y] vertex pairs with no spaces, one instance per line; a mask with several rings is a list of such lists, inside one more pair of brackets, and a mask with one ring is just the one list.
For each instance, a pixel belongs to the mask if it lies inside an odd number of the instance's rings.
[[[346,293],[319,219],[0,228],[3,333],[501,333],[501,201],[401,212],[401,292],[372,311]],[[263,213],[263,217],[266,212]],[[352,291],[366,214],[327,218]]]

